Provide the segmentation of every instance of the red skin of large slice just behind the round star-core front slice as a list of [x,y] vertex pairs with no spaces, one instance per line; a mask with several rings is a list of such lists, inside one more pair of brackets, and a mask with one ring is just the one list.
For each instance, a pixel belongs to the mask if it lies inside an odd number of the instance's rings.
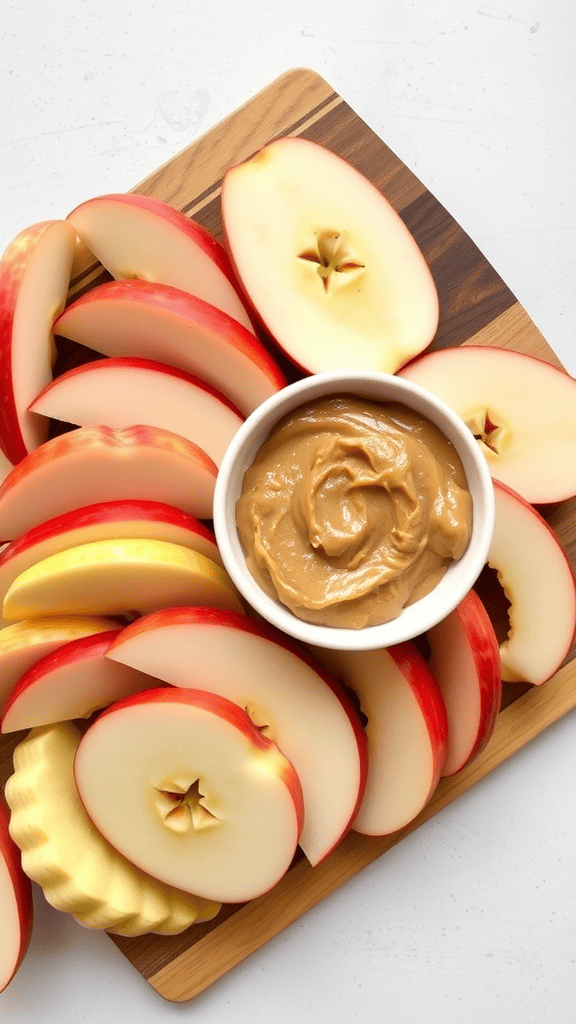
[[[318,662],[310,651],[305,648],[300,647],[296,641],[291,640],[286,634],[282,633],[280,630],[275,629],[263,620],[253,620],[248,615],[241,614],[237,611],[229,611],[223,608],[213,608],[209,606],[190,606],[190,607],[175,607],[175,608],[163,608],[161,611],[152,611],[147,615],[141,615],[140,618],[136,618],[129,626],[125,626],[124,629],[119,633],[118,637],[113,639],[109,651],[112,653],[115,646],[121,646],[126,640],[131,637],[137,636],[139,633],[146,633],[151,629],[161,628],[162,626],[177,626],[179,624],[188,625],[190,623],[199,623],[200,625],[209,626],[230,626],[233,629],[245,630],[247,633],[255,634],[256,636],[261,636],[265,640],[270,640],[271,643],[278,644],[284,647],[285,650],[289,651],[295,657],[301,658],[319,676],[324,680],[327,686],[330,687],[333,693],[336,694],[338,700],[340,701],[342,708],[344,709],[352,728],[354,730],[354,735],[358,745],[359,752],[359,767],[360,767],[360,787],[358,794],[358,800],[356,806],[351,814],[349,821],[345,828],[345,831],[340,837],[340,842],[347,831],[353,826],[354,819],[356,818],[362,800],[364,798],[364,793],[366,790],[366,779],[368,776],[368,741],[366,738],[366,733],[362,726],[360,717],[356,708],[354,707],[351,698],[348,697],[346,691],[343,687],[330,675],[330,673],[324,668],[323,665]],[[222,698],[223,699],[223,698]],[[337,844],[335,844],[337,845]],[[328,850],[323,859],[326,859],[332,853],[333,849]]]

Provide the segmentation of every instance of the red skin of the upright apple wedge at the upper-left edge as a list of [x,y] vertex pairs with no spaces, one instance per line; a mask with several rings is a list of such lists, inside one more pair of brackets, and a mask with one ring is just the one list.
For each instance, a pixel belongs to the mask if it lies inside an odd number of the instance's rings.
[[[0,446],[6,458],[16,465],[28,455],[28,447],[19,426],[12,387],[12,328],[18,292],[29,259],[53,220],[40,221],[25,228],[5,250],[0,260]],[[72,259],[72,255],[71,255]],[[63,296],[64,304],[65,296]],[[39,429],[39,442],[48,436]]]

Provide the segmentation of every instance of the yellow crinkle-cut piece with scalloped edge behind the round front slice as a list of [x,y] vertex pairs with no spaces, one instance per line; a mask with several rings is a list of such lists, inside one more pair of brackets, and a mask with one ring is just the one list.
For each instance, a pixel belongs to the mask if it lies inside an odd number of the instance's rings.
[[213,914],[213,903],[149,879],[94,828],[74,781],[79,741],[72,723],[33,729],[16,746],[6,783],[12,839],[48,903],[85,928],[123,935],[175,933]]

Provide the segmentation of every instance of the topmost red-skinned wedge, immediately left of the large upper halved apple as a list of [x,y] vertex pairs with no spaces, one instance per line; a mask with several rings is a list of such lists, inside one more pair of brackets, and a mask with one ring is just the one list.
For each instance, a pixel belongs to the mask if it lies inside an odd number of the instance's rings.
[[87,200],[68,220],[113,278],[180,288],[252,331],[225,249],[179,210],[150,196],[116,194]]

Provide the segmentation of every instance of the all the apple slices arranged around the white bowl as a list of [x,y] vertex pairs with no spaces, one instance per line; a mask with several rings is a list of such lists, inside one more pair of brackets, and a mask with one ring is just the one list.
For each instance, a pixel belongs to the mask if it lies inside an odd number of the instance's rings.
[[[104,196],[0,261],[0,715],[30,730],[11,813],[0,800],[0,990],[30,879],[84,927],[210,920],[298,846],[317,865],[351,828],[414,820],[490,739],[502,678],[543,683],[573,639],[574,577],[534,504],[576,494],[575,382],[503,349],[421,355],[439,316],[422,254],[323,146],[231,168],[222,221],[225,248]],[[66,307],[78,239],[115,280]],[[304,650],[246,612],[205,521],[232,435],[286,383],[254,324],[300,372],[399,372],[468,423],[494,477],[502,643],[474,591],[421,638],[427,660],[412,642]],[[102,358],[52,379],[55,338]]]

